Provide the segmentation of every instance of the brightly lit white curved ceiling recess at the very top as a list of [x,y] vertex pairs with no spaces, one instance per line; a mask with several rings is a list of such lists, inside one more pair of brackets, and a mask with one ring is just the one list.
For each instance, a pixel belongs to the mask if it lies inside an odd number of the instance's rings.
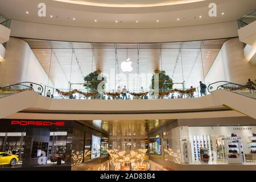
[[155,7],[179,5],[185,3],[206,1],[206,0],[53,0],[79,5],[100,6],[100,7]]

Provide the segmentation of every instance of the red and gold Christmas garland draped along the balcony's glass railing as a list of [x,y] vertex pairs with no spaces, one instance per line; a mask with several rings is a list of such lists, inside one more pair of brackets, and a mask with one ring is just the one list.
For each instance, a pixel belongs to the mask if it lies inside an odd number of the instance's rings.
[[[72,96],[72,94],[75,93],[79,93],[82,94],[85,97],[93,97],[93,96],[97,96],[97,94],[99,94],[98,92],[92,92],[92,93],[86,93],[86,92],[81,92],[77,89],[69,91],[69,92],[63,92],[60,91],[59,89],[56,89],[57,93],[61,94],[62,96]],[[187,90],[180,90],[180,89],[172,89],[172,90],[167,90],[167,91],[163,91],[163,92],[159,92],[159,96],[168,96],[168,94],[170,93],[174,93],[174,92],[179,92],[179,93],[183,93],[183,94],[189,94],[189,93],[193,93],[196,91],[196,88],[191,88],[191,89],[187,89]],[[155,93],[154,91],[152,92],[141,92],[141,93],[135,93],[135,92],[128,92],[129,94],[131,94],[131,96],[135,96],[135,97],[142,97],[142,96],[147,96],[148,93]],[[106,94],[107,96],[112,96],[112,97],[117,97],[119,96],[121,93],[117,93],[117,92],[104,92],[104,94]]]

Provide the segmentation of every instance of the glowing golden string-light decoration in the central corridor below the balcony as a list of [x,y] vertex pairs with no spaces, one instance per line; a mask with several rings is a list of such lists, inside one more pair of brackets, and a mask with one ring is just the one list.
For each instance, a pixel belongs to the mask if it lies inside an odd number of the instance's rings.
[[107,150],[111,162],[115,166],[115,170],[121,170],[121,166],[126,166],[126,170],[130,170],[130,166],[134,166],[134,169],[146,168],[143,164],[147,149],[138,149],[131,151],[119,151],[119,150]]

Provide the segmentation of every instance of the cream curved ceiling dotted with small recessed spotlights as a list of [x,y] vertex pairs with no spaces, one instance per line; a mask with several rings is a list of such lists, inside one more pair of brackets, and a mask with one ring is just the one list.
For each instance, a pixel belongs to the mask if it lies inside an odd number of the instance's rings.
[[[46,17],[38,16],[41,0],[1,0],[0,14],[27,22],[97,28],[163,28],[231,22],[256,8],[255,0],[207,0],[158,7],[98,7],[44,0]],[[209,3],[217,16],[208,15]],[[26,14],[26,11],[29,14]],[[222,15],[221,13],[225,13]],[[51,15],[53,16],[51,18]],[[199,18],[199,16],[202,16]],[[76,20],[73,20],[75,18]],[[180,20],[177,20],[177,19]],[[97,22],[94,20],[97,19]],[[138,20],[138,23],[136,21]],[[159,20],[159,22],[156,22]],[[115,23],[118,21],[118,23]]]

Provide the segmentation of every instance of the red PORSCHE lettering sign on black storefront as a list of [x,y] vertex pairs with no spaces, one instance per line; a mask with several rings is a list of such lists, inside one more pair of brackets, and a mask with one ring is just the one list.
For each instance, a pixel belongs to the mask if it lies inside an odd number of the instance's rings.
[[65,122],[63,121],[18,121],[12,120],[12,126],[65,126]]

